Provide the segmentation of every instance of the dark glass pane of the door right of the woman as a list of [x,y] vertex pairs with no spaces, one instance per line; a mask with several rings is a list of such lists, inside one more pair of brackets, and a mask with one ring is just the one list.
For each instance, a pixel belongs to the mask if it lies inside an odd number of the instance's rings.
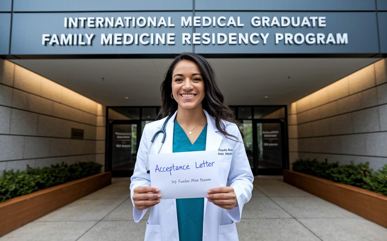
[[257,123],[258,168],[282,168],[281,124]]

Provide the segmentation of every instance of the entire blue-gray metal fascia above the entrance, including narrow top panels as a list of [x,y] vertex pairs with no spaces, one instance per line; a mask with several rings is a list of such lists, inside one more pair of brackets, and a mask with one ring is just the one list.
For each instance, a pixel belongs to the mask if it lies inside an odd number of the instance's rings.
[[[3,0],[0,10],[10,11],[11,3]],[[379,45],[386,52],[385,14],[378,12],[379,40],[376,8],[386,10],[387,0],[13,0],[12,38],[9,20],[1,23],[2,55],[7,38],[10,54],[20,56],[182,51],[373,56]]]

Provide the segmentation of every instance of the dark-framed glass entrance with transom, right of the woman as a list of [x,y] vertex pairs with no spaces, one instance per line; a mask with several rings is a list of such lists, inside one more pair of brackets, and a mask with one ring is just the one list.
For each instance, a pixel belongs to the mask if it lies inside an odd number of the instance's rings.
[[248,162],[254,175],[283,175],[288,168],[286,107],[231,106],[244,135]]

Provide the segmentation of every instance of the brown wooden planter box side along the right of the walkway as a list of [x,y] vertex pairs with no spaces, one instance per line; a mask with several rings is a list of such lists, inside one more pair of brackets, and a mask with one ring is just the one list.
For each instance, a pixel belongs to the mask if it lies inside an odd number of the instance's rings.
[[284,182],[387,228],[387,196],[301,172],[284,170]]

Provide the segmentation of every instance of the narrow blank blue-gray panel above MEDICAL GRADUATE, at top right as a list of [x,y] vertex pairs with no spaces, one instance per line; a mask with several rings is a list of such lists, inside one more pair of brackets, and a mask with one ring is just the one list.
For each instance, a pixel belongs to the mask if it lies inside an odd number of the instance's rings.
[[375,11],[376,9],[373,0],[195,0],[195,10]]

